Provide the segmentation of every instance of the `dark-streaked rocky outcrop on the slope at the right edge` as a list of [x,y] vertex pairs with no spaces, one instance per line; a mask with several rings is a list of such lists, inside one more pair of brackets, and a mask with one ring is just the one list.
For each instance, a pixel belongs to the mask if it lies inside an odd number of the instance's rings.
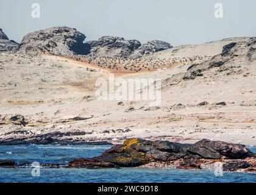
[[222,47],[220,54],[213,55],[199,63],[188,63],[184,71],[164,80],[164,85],[172,85],[183,80],[225,77],[235,74],[248,76],[256,59],[256,38],[232,41]]

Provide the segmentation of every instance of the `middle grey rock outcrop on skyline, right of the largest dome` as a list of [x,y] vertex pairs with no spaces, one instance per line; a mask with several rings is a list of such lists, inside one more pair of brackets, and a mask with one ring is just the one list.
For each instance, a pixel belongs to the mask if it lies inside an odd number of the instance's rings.
[[90,54],[98,57],[128,57],[141,46],[140,41],[111,36],[101,37],[98,41],[88,41],[86,44]]

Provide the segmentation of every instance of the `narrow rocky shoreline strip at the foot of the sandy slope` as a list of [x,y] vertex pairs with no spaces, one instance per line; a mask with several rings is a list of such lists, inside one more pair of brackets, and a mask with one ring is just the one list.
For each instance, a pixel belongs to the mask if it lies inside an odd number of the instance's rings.
[[[102,132],[102,133],[99,133]],[[232,138],[229,137],[229,134],[222,133],[222,137],[211,138],[210,132],[208,136],[201,135],[199,137],[182,137],[173,133],[173,135],[165,135],[164,132],[160,132],[155,135],[146,135],[143,131],[137,132],[137,130],[130,129],[105,129],[105,130],[71,130],[71,131],[46,131],[44,132],[34,130],[14,130],[13,132],[7,132],[0,135],[0,146],[1,145],[27,145],[27,144],[51,144],[51,145],[116,145],[122,144],[127,138],[141,138],[151,141],[172,141],[177,143],[189,143],[193,144],[203,138],[210,139],[212,141],[225,141],[233,144],[241,144],[246,147],[255,147],[256,143],[251,141],[252,138],[249,138],[247,141],[241,139],[240,141],[232,141]],[[118,137],[116,137],[118,134]],[[200,133],[199,133],[200,134]],[[241,141],[243,140],[243,141]]]

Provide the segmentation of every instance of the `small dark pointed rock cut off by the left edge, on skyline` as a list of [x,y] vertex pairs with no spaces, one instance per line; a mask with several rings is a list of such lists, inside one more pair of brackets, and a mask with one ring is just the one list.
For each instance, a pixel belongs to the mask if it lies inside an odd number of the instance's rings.
[[9,38],[2,32],[0,29],[0,52],[11,52],[15,51],[20,47],[20,44],[16,43],[13,40],[9,40]]

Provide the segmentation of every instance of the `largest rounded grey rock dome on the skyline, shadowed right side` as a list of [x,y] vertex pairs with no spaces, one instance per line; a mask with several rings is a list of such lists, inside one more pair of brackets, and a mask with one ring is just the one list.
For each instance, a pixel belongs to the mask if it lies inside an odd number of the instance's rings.
[[21,41],[19,52],[26,54],[52,54],[72,57],[87,54],[85,35],[69,27],[52,27],[27,34]]

